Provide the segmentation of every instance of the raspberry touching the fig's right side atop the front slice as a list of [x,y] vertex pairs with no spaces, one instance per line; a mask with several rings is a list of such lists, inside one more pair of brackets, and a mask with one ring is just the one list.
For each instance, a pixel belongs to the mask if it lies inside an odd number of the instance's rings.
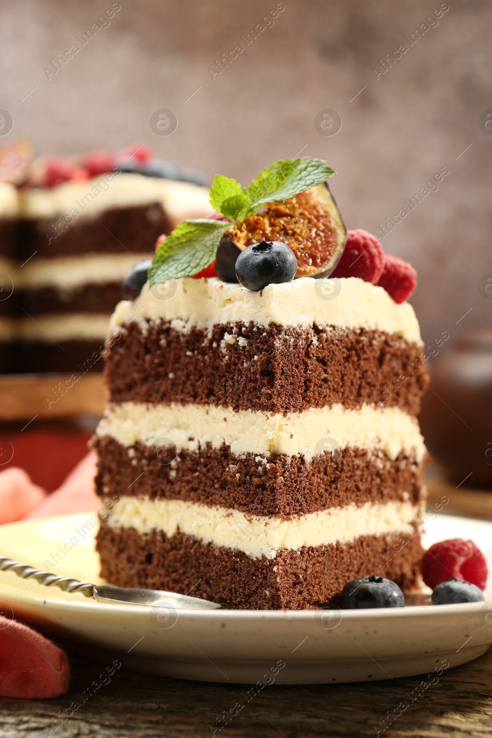
[[364,282],[378,283],[383,272],[384,252],[372,233],[361,230],[348,231],[342,258],[332,277],[359,277]]

